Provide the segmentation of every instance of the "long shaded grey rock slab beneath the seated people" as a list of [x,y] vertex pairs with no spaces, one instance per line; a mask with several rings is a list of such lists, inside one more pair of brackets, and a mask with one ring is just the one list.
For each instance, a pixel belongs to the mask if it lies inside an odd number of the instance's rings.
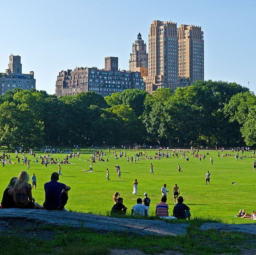
[[68,225],[75,228],[87,228],[95,232],[126,232],[139,235],[184,235],[186,223],[169,223],[162,220],[143,220],[128,218],[113,218],[96,214],[84,214],[66,211],[46,211],[32,209],[1,209],[1,230],[9,231],[10,221],[26,219],[38,225]]

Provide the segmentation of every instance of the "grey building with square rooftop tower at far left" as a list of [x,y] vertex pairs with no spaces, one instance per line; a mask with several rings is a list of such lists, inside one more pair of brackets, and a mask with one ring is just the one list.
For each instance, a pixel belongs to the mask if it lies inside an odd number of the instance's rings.
[[0,95],[14,88],[35,89],[36,80],[34,79],[34,71],[29,74],[22,73],[21,57],[19,55],[9,56],[8,69],[5,73],[0,73]]

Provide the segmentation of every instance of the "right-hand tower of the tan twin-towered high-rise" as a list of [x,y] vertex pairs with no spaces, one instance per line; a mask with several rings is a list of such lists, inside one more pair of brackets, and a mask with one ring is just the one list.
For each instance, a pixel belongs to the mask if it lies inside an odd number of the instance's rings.
[[204,41],[200,26],[180,25],[178,28],[178,75],[190,84],[204,79]]

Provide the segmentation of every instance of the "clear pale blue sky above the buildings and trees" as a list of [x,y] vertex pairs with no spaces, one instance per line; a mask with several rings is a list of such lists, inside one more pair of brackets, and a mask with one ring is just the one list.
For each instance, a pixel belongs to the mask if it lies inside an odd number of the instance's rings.
[[[255,0],[12,0],[1,5],[0,72],[20,55],[36,89],[55,93],[61,70],[104,67],[119,58],[128,70],[132,43],[147,43],[153,20],[201,26],[205,80],[237,82],[256,92]],[[249,85],[248,85],[249,81]]]

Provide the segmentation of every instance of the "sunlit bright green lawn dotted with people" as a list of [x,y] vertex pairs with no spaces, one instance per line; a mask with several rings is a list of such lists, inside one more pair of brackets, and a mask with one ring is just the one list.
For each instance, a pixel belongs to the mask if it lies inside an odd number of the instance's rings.
[[[140,150],[143,152],[143,150]],[[140,159],[137,163],[131,163],[131,156],[135,154],[132,150],[126,150],[130,157],[130,163],[127,160],[117,159],[113,156],[113,150],[106,152],[104,159],[109,162],[98,162],[93,164],[93,173],[83,172],[90,167],[90,150],[81,150],[80,157],[70,159],[71,164],[62,164],[60,182],[71,186],[69,192],[69,200],[66,205],[68,211],[77,211],[84,213],[95,213],[108,215],[113,206],[112,196],[114,192],[119,192],[124,198],[124,205],[128,207],[128,214],[131,214],[131,208],[136,203],[138,197],[143,198],[144,192],[148,193],[151,199],[150,216],[154,216],[155,206],[161,200],[161,188],[166,183],[167,203],[169,204],[169,214],[173,210],[172,188],[175,183],[180,188],[181,196],[184,197],[186,203],[191,208],[192,218],[211,218],[225,223],[253,223],[255,221],[234,218],[239,209],[245,209],[251,213],[256,210],[255,205],[255,183],[256,172],[252,171],[253,158],[249,158],[252,152],[245,152],[248,158],[238,162],[235,156],[218,158],[218,153],[209,151],[205,161],[200,162],[199,158],[194,158],[190,152],[189,162],[179,154],[178,158],[162,158],[161,160]],[[156,150],[147,150],[147,155],[154,156]],[[201,153],[201,152],[199,152]],[[203,153],[207,153],[204,151]],[[226,151],[226,153],[230,153]],[[44,155],[43,152],[37,152]],[[117,149],[119,155],[119,150]],[[235,153],[234,153],[235,154]],[[53,157],[63,159],[66,154],[53,154]],[[239,153],[241,155],[241,152]],[[44,202],[44,183],[50,181],[52,172],[58,170],[58,165],[45,165],[34,163],[34,157],[26,154],[31,159],[30,170],[22,165],[22,155],[19,153],[21,163],[17,164],[15,155],[11,154],[11,161],[15,164],[6,164],[5,167],[0,165],[0,194],[8,185],[11,177],[18,176],[19,172],[26,170],[30,177],[34,173],[37,177],[37,189],[32,190],[32,195],[38,203]],[[213,157],[214,165],[210,165],[210,156]],[[85,161],[88,159],[89,161]],[[153,163],[154,174],[150,173],[150,163]],[[181,165],[183,172],[177,171],[177,164]],[[121,167],[121,179],[117,180],[115,165]],[[106,168],[109,168],[111,181],[106,179]],[[209,170],[211,174],[210,185],[205,185],[205,174]],[[137,179],[139,182],[137,195],[132,194],[133,181]],[[237,185],[232,185],[236,182]]]

